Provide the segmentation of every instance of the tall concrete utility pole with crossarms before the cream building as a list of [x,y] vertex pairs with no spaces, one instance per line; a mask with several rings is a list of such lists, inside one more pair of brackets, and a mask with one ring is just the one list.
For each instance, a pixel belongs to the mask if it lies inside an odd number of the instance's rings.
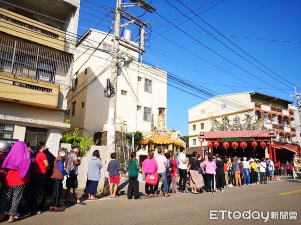
[[[112,53],[112,71],[111,80],[107,79],[107,87],[105,88],[105,96],[110,97],[109,99],[109,110],[108,110],[108,129],[107,129],[107,148],[106,148],[106,160],[105,167],[109,163],[110,154],[115,151],[115,117],[116,117],[116,90],[117,90],[117,76],[121,65],[119,65],[119,46],[123,46],[129,50],[143,54],[145,32],[144,27],[147,25],[147,21],[142,21],[136,16],[132,15],[124,7],[140,6],[148,12],[156,10],[155,7],[149,5],[144,0],[130,0],[129,3],[121,3],[121,0],[116,0],[115,9],[115,24],[114,24],[114,36],[113,36],[113,53]],[[125,18],[128,22],[120,24],[120,19]],[[134,23],[139,26],[139,44],[133,44],[130,40],[124,39],[119,35],[120,27],[124,27],[128,24]],[[114,90],[115,89],[115,90]],[[133,142],[132,142],[133,144]]]

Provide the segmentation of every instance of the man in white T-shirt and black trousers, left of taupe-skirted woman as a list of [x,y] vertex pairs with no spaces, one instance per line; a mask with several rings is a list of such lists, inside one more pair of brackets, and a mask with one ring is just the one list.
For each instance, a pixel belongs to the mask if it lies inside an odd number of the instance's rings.
[[186,162],[188,161],[188,158],[186,157],[185,154],[185,147],[181,146],[180,147],[180,153],[177,156],[179,165],[179,174],[180,174],[180,179],[179,179],[179,191],[184,194],[189,194],[188,191],[186,191],[186,181],[187,181],[187,164]]

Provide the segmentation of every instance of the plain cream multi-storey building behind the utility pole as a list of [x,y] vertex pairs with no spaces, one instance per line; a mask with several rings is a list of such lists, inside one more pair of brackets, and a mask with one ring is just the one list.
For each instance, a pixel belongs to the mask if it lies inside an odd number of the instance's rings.
[[[109,98],[104,96],[104,89],[107,78],[111,78],[112,38],[112,34],[89,29],[77,43],[74,71],[79,71],[73,77],[65,118],[71,120],[69,130],[79,128],[81,135],[94,136],[107,127]],[[122,63],[115,87],[116,130],[150,130],[152,118],[157,124],[158,108],[166,108],[167,72],[138,62],[138,53],[122,46],[119,57]]]

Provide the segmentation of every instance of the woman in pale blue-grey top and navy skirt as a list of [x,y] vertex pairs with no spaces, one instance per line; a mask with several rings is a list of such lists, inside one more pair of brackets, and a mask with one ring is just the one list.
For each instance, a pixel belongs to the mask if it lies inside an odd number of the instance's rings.
[[97,192],[98,181],[100,180],[100,169],[102,168],[99,150],[93,151],[88,164],[88,178],[84,192],[88,194],[88,199],[97,200],[98,198],[94,195]]

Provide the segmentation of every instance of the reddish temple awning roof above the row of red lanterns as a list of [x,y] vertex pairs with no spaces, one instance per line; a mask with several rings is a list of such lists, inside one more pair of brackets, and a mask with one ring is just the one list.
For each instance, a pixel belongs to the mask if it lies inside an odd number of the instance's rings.
[[199,135],[200,139],[206,140],[236,140],[235,138],[241,138],[241,140],[253,140],[253,139],[268,139],[271,137],[276,137],[276,132],[274,134],[270,134],[270,129],[261,129],[261,130],[228,130],[228,131],[207,131],[204,132],[204,135]]

